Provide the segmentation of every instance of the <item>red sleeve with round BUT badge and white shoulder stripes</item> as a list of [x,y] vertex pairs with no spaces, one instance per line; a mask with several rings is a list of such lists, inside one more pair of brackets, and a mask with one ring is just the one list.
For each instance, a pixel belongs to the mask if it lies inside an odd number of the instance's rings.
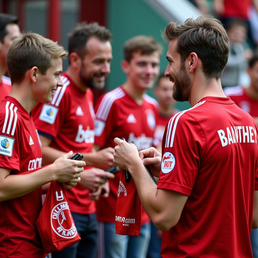
[[163,136],[158,189],[190,196],[205,148],[206,138],[199,123],[188,114],[173,116]]

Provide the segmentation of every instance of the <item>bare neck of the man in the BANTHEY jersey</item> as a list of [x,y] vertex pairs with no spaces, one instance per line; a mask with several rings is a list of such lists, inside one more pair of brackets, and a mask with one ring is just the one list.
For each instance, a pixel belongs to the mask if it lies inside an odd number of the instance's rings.
[[[196,77],[196,78],[195,78]],[[225,98],[220,79],[216,80],[210,79],[207,81],[204,76],[193,77],[193,84],[191,89],[191,94],[189,98],[189,103],[191,106],[195,106],[202,98],[205,97],[222,97]]]

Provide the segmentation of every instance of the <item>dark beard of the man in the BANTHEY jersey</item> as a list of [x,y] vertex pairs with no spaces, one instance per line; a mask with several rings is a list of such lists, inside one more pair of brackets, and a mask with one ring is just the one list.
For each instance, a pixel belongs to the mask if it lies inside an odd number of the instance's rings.
[[174,77],[170,76],[170,80],[174,80],[175,83],[172,93],[173,99],[179,102],[188,101],[192,89],[192,80],[187,74],[184,63],[181,62],[179,71]]

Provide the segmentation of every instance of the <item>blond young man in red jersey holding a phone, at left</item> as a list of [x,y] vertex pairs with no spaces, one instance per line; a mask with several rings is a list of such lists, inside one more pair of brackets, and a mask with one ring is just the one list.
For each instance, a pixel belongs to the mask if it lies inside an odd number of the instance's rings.
[[45,257],[35,221],[41,211],[41,187],[51,181],[66,182],[68,189],[80,182],[84,161],[68,152],[48,167],[41,167],[42,151],[30,116],[37,102],[51,101],[62,86],[63,47],[38,34],[17,38],[7,54],[12,80],[10,96],[0,104],[0,256]]

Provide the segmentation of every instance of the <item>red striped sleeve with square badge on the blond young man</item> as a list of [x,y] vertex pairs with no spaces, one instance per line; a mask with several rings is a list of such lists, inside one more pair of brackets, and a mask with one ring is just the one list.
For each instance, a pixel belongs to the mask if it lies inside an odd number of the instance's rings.
[[[8,102],[5,112],[3,110],[0,112],[0,167],[20,171],[19,144],[22,124],[17,107]],[[10,107],[7,106],[9,104]],[[3,108],[2,105],[1,108]]]

